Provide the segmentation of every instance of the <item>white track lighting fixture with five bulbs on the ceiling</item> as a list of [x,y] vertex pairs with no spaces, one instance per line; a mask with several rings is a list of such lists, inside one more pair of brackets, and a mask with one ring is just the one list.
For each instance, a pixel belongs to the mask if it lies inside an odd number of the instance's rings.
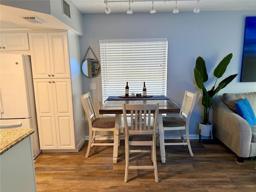
[[[134,2],[151,2],[152,1],[152,8],[151,8],[151,10],[150,10],[150,13],[155,13],[156,12],[156,10],[155,10],[155,8],[154,8],[154,1],[156,2],[156,1],[159,1],[159,2],[166,2],[166,1],[176,1],[176,0],[104,0],[104,3],[106,3],[106,10],[105,10],[105,12],[106,12],[106,14],[110,14],[110,12],[111,12],[111,10],[110,10],[110,8],[108,8],[108,3],[119,3],[119,2],[129,2],[129,8],[128,8],[128,10],[127,10],[127,14],[132,14],[132,9],[131,9],[131,1],[132,1],[132,3],[134,3]],[[184,0],[180,0],[180,1],[184,1]],[[196,6],[196,8],[194,9],[194,12],[195,13],[199,13],[200,12],[200,10],[199,10],[199,8],[198,8],[198,2],[200,1],[200,0],[186,0],[186,1],[197,1],[197,6]],[[179,5],[180,6],[180,5]],[[172,11],[173,13],[178,13],[179,12],[179,10],[178,10],[178,7],[177,7],[177,1],[176,1],[176,6],[175,6],[175,8],[174,8],[174,10]]]

